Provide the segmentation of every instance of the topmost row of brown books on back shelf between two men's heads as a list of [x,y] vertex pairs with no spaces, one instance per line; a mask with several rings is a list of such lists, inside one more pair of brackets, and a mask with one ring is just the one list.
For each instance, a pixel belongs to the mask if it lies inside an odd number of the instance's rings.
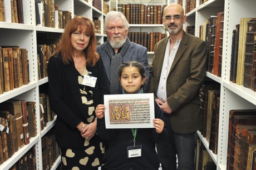
[[122,12],[130,24],[161,24],[162,9],[166,5],[149,4],[118,4],[118,11]]

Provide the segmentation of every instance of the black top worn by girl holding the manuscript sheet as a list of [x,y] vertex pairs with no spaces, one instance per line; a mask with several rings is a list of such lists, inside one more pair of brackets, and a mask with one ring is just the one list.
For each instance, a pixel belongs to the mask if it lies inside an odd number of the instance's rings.
[[[125,95],[125,94],[124,94]],[[155,118],[164,119],[163,112],[154,101]],[[142,145],[141,157],[127,158],[127,147],[133,146],[131,129],[106,129],[105,117],[97,119],[97,132],[99,136],[108,141],[104,155],[107,170],[157,170],[160,162],[156,153],[155,143],[167,139],[168,131],[164,128],[162,133],[157,133],[155,128],[139,128],[136,136],[136,145]]]

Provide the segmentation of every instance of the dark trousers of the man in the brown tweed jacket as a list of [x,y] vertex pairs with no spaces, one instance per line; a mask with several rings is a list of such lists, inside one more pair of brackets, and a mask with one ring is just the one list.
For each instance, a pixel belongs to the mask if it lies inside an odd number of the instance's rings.
[[[171,128],[169,115],[164,114],[164,118],[169,131],[169,138],[165,142],[156,144],[162,169],[194,170],[195,132],[188,134],[175,133]],[[176,156],[178,157],[178,167]]]

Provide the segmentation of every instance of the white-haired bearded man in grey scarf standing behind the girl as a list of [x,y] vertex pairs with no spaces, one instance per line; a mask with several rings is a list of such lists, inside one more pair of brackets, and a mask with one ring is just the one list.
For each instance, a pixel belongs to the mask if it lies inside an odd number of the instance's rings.
[[147,48],[134,42],[130,42],[127,34],[129,23],[124,14],[117,11],[110,11],[105,17],[104,30],[107,34],[107,41],[97,47],[97,53],[104,62],[107,73],[110,93],[114,94],[121,89],[117,76],[117,69],[120,64],[127,61],[138,61],[145,67],[146,81],[142,84],[144,91],[147,91],[149,82],[149,62],[147,60]]

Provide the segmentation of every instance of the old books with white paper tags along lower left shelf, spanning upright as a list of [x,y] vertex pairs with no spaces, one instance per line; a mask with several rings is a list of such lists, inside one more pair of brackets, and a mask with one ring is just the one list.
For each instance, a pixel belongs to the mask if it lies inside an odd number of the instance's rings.
[[[48,95],[40,93],[41,131],[54,119]],[[9,99],[0,103],[0,164],[37,136],[36,102]]]

